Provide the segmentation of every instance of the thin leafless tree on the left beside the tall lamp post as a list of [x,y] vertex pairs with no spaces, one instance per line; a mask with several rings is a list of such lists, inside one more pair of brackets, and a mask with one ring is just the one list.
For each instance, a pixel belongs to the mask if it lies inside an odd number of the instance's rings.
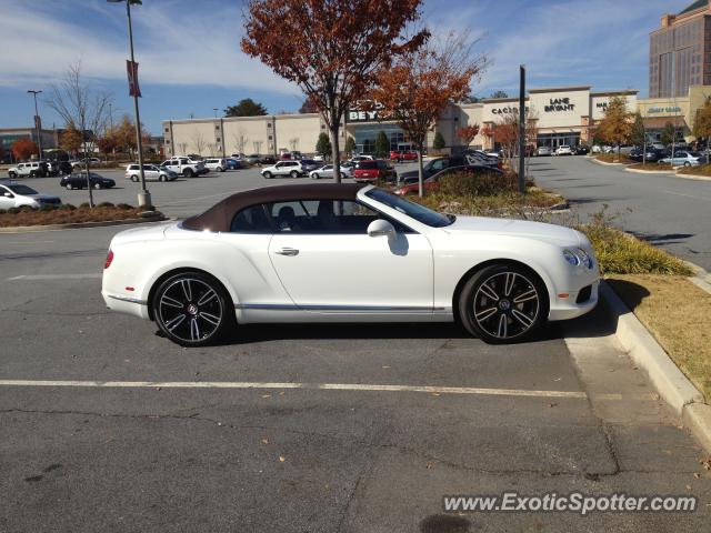
[[70,64],[59,84],[51,86],[51,98],[48,105],[59,114],[66,123],[74,124],[81,133],[84,167],[87,169],[87,190],[89,207],[93,208],[93,193],[89,171],[89,137],[98,138],[109,121],[109,105],[113,97],[107,91],[96,91],[84,82],[81,76],[81,61]]

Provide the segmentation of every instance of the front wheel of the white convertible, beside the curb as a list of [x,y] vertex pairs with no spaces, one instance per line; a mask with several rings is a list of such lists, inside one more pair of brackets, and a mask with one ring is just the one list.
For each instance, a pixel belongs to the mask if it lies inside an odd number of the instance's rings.
[[548,291],[540,278],[527,268],[491,264],[467,281],[458,308],[464,329],[482,341],[489,344],[520,342],[545,323]]

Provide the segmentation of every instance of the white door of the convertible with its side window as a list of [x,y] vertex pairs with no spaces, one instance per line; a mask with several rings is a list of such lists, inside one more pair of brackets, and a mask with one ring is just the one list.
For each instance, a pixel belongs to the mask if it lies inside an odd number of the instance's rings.
[[313,313],[431,315],[429,241],[402,224],[370,237],[383,215],[356,201],[301,200],[268,205],[276,233],[269,257],[299,308]]

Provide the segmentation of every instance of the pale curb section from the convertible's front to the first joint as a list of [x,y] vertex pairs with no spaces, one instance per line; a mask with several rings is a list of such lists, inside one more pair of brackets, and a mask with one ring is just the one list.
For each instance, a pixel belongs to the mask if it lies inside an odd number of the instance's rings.
[[634,316],[607,283],[600,284],[602,296],[614,319],[615,336],[630,358],[649,374],[661,398],[682,418],[684,408],[692,403],[703,404],[703,394],[669,359],[667,352],[652,334]]

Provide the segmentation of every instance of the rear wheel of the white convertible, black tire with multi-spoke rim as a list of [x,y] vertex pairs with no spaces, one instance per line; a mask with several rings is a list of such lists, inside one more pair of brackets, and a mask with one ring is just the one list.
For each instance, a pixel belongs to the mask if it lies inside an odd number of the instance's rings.
[[181,346],[212,344],[236,325],[230,295],[201,272],[168,278],[156,290],[151,305],[160,331]]

